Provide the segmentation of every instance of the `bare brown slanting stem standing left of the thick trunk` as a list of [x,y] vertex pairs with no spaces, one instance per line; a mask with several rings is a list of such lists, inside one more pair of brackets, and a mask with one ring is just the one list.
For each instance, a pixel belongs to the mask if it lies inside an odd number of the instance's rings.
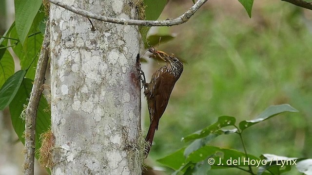
[[49,27],[46,26],[42,48],[37,63],[34,85],[31,90],[29,103],[25,109],[24,175],[34,175],[36,117],[39,100],[42,94],[44,74],[48,65],[49,45],[50,32]]

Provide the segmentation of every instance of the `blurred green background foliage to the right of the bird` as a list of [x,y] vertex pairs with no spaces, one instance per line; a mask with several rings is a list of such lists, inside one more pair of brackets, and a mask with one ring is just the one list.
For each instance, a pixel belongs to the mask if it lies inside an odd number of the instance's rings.
[[[247,151],[311,157],[311,21],[303,9],[287,3],[254,4],[253,10],[249,19],[246,12],[233,14],[214,6],[171,28],[179,31],[176,39],[158,50],[175,53],[187,64],[160,120],[150,157],[186,146],[182,137],[218,116],[252,120],[266,107],[285,103],[299,113],[283,114],[245,132]],[[243,150],[237,135],[219,136],[210,145]]]

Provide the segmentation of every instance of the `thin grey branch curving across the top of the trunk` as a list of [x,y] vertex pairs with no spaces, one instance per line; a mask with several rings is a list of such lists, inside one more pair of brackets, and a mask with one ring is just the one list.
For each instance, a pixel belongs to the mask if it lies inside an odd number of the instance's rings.
[[112,22],[117,24],[125,24],[125,25],[140,25],[140,26],[173,26],[185,23],[188,21],[196,12],[197,10],[207,1],[207,0],[198,0],[188,11],[177,18],[163,20],[163,21],[153,21],[153,20],[135,20],[135,19],[120,19],[120,18],[111,18],[111,17],[104,17],[101,15],[96,15],[86,10],[76,8],[74,6],[66,5],[59,0],[49,0],[51,3],[63,7],[66,10],[74,12],[78,15],[97,19],[100,21],[105,22]]

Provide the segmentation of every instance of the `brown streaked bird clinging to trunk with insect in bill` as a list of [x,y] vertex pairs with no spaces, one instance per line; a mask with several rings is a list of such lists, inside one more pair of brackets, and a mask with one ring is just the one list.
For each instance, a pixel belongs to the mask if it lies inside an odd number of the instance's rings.
[[173,54],[169,55],[162,51],[156,51],[154,48],[149,49],[149,52],[153,53],[152,56],[163,59],[166,65],[156,70],[152,75],[150,83],[144,84],[144,94],[147,98],[151,121],[150,128],[145,138],[150,144],[146,149],[147,155],[150,152],[155,131],[158,129],[159,119],[168,105],[172,89],[183,71],[182,62]]

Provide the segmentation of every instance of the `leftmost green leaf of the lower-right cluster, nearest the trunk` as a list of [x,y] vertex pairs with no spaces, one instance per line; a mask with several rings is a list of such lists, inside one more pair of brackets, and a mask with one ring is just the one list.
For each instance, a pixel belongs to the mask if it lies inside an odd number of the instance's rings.
[[184,152],[184,148],[181,148],[166,157],[158,159],[157,161],[174,170],[178,170],[185,163],[184,161],[185,157],[183,156],[183,152]]

